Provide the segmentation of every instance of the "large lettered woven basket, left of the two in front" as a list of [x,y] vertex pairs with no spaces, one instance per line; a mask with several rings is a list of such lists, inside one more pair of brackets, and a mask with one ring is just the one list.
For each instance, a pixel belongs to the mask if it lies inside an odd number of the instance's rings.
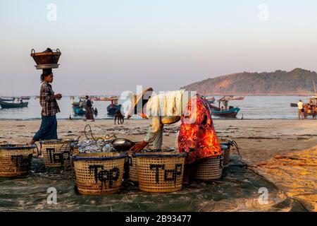
[[127,155],[119,153],[80,153],[73,155],[76,184],[80,194],[117,193],[123,181]]

